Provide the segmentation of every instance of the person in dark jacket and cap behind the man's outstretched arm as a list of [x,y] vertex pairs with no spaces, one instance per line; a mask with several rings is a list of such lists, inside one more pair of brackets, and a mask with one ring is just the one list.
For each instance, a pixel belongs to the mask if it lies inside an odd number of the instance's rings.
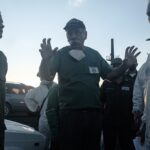
[[[116,58],[112,66],[117,67],[121,63],[121,59]],[[105,80],[101,86],[105,150],[115,150],[118,143],[121,150],[135,150],[133,138],[136,128],[132,115],[132,92],[136,75],[136,65],[133,65],[123,76],[112,82]]]

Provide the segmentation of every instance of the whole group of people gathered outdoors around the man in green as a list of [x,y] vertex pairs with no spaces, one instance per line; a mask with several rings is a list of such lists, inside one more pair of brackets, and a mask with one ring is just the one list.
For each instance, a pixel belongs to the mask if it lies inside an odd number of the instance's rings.
[[[147,9],[150,17],[150,3]],[[4,28],[0,14],[0,38]],[[76,18],[64,27],[69,45],[52,49],[43,39],[38,76],[41,83],[25,97],[30,111],[40,111],[38,130],[45,150],[136,150],[134,140],[150,150],[150,55],[137,72],[137,47],[111,65],[84,45],[85,24]],[[7,59],[0,51],[0,149],[4,150],[4,101]],[[53,82],[58,74],[58,84]],[[100,78],[104,80],[100,86]]]

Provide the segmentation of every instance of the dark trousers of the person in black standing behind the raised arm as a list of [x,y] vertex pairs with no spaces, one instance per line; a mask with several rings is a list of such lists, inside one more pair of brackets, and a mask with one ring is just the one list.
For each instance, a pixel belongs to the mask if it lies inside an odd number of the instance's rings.
[[135,150],[133,136],[129,128],[105,124],[103,126],[104,150],[116,150],[118,142],[121,150]]

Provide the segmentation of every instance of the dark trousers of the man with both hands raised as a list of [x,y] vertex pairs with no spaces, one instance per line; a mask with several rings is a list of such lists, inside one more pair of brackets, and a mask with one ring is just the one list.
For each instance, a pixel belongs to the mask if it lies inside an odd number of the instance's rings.
[[60,111],[60,150],[100,150],[102,112]]

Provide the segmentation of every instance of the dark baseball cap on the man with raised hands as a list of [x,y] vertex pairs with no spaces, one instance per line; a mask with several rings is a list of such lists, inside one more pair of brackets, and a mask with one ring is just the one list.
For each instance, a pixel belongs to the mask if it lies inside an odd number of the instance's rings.
[[68,31],[70,29],[75,29],[75,28],[86,29],[84,23],[81,20],[73,18],[67,22],[66,26],[64,27],[64,30]]

